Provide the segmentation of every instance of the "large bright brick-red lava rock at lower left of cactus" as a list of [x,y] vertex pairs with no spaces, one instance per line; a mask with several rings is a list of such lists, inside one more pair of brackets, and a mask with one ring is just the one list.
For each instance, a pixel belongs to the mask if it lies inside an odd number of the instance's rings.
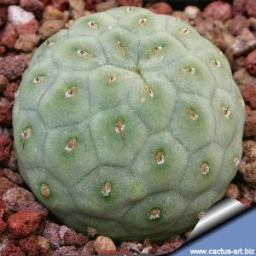
[[17,212],[7,219],[9,232],[14,237],[28,236],[38,229],[42,218],[42,212]]

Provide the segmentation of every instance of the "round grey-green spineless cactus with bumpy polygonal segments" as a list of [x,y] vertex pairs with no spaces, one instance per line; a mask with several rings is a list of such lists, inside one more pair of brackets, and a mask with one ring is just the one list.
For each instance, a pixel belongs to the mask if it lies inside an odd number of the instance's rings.
[[63,223],[160,241],[224,195],[245,110],[228,61],[193,27],[122,7],[40,46],[13,120],[20,173]]

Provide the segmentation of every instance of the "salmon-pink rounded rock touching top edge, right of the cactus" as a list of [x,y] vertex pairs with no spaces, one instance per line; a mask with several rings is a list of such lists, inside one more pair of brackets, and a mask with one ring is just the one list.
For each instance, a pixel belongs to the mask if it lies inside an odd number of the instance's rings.
[[204,18],[212,18],[213,20],[229,20],[232,17],[232,9],[230,3],[216,1],[209,3],[202,13]]

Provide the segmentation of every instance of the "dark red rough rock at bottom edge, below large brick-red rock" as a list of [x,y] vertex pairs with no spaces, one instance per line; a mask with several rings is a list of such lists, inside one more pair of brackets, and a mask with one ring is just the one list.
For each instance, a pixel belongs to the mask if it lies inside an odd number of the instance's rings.
[[27,256],[47,256],[47,250],[38,244],[38,237],[35,235],[28,236],[25,239],[19,241],[21,250],[26,253]]

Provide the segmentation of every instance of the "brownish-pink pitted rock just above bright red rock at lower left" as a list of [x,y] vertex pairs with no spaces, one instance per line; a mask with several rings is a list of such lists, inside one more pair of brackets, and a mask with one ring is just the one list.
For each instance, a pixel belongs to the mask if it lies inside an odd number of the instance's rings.
[[32,193],[20,187],[8,189],[3,194],[3,201],[5,202],[6,206],[9,207],[9,210],[15,212],[18,211],[18,208],[22,205],[23,202],[34,200],[35,198]]

